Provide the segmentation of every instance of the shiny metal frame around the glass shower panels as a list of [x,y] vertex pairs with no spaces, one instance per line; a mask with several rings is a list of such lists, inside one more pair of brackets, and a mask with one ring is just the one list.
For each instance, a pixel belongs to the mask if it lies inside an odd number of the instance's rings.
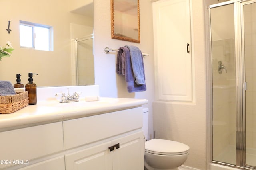
[[[228,4],[234,4],[234,30],[235,30],[235,61],[236,61],[236,165],[213,160],[213,101],[211,100],[211,127],[210,127],[210,162],[239,168],[244,170],[256,170],[256,166],[246,165],[246,131],[245,131],[245,49],[244,49],[244,27],[243,24],[243,5],[254,3],[256,0],[230,0],[208,8],[209,29],[210,29],[210,51],[212,52],[211,39],[211,15],[210,9]],[[212,66],[212,53],[210,65]],[[212,76],[212,72],[211,72]],[[213,82],[212,82],[213,83]],[[212,84],[211,83],[211,84]],[[213,86],[211,88],[213,90]],[[213,98],[213,91],[211,93]],[[242,141],[242,142],[239,142]]]

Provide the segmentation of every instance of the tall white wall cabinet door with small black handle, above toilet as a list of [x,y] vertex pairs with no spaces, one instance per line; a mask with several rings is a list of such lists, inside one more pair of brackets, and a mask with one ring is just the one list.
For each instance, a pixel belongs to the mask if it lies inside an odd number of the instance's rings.
[[156,98],[192,101],[190,0],[152,3]]

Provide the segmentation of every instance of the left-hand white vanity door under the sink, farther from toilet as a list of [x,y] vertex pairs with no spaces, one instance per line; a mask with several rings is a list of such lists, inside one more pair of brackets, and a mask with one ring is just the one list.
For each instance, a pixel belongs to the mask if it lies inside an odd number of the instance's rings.
[[111,141],[65,155],[66,170],[112,170]]

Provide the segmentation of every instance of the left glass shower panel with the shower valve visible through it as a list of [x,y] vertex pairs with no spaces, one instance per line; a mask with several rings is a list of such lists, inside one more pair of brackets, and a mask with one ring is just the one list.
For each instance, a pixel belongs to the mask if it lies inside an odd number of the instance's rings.
[[212,160],[236,164],[234,5],[210,9],[212,40]]

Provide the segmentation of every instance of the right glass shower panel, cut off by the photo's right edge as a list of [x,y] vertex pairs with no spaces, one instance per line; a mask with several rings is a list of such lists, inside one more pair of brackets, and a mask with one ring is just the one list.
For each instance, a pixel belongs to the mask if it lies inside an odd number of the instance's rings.
[[246,121],[245,164],[256,166],[256,2],[242,3]]

